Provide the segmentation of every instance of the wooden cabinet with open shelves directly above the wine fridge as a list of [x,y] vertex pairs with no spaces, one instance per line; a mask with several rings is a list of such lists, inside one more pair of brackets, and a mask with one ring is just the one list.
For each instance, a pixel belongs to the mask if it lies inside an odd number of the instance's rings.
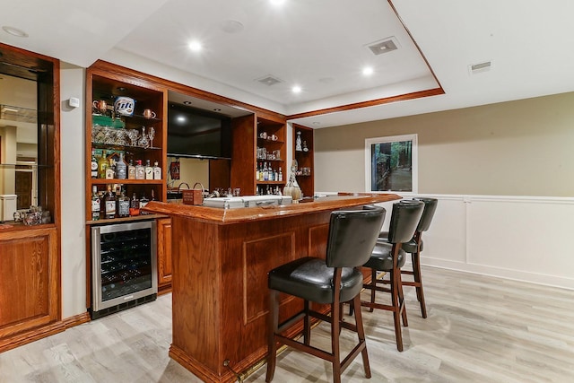
[[[130,116],[120,115],[114,103],[121,98],[135,101]],[[91,219],[92,187],[100,194],[112,187],[123,186],[126,196],[153,197],[163,201],[166,198],[166,141],[167,141],[167,89],[159,83],[117,65],[97,62],[87,70],[86,82],[86,217]],[[94,105],[95,104],[95,105]],[[102,108],[102,106],[104,108]],[[144,110],[153,112],[152,117]],[[150,135],[153,133],[153,137]],[[134,138],[135,137],[135,138]],[[144,138],[144,139],[143,139]],[[101,155],[119,161],[123,155],[125,162],[155,162],[161,169],[161,178],[156,179],[117,179],[92,178],[91,153],[97,160]],[[101,204],[103,205],[103,204]],[[101,209],[100,209],[101,211]],[[100,213],[100,221],[103,214]],[[114,221],[113,219],[107,221]]]

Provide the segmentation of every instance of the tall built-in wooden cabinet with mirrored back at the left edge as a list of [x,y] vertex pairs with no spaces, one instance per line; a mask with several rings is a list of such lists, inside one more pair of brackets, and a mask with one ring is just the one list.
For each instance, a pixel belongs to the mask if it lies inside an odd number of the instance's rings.
[[[33,226],[0,224],[0,353],[63,331],[61,318],[60,263],[60,63],[51,57],[0,44],[0,74],[35,82],[37,100],[37,156],[31,173],[36,175],[37,205],[49,211],[51,222]],[[18,93],[20,89],[8,92]],[[11,124],[8,124],[11,125]],[[15,194],[6,185],[15,182],[18,135],[2,133],[0,142],[0,194]],[[11,141],[13,140],[13,142]],[[27,144],[27,148],[33,147]],[[27,149],[29,150],[29,149]],[[28,189],[27,194],[33,193]],[[12,214],[7,221],[11,221]],[[3,218],[4,220],[4,218]]]

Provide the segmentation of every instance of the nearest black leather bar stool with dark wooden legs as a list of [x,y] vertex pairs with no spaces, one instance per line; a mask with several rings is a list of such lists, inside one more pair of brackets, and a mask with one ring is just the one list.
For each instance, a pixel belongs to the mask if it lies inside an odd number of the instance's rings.
[[[365,206],[363,210],[335,211],[331,213],[326,244],[326,259],[303,257],[274,268],[268,275],[269,344],[266,382],[274,377],[277,348],[286,344],[305,353],[315,355],[333,364],[333,381],[341,382],[341,373],[361,353],[365,376],[370,378],[369,356],[361,318],[360,293],[363,276],[361,265],[370,257],[385,220],[385,209]],[[279,324],[280,293],[304,300],[303,309]],[[342,302],[352,300],[355,324],[342,320]],[[309,309],[309,301],[331,305],[331,316]],[[318,318],[331,324],[331,352],[309,344],[311,328],[309,318]],[[303,320],[303,342],[282,333]],[[359,343],[341,361],[339,333],[341,328],[357,333]]]

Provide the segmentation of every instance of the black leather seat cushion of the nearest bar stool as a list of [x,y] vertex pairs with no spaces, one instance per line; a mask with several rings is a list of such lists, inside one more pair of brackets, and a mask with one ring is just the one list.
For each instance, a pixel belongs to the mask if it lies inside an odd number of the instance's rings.
[[[317,303],[333,303],[333,267],[325,259],[303,257],[274,268],[269,273],[270,289],[298,296]],[[362,289],[362,274],[352,267],[341,273],[341,301],[352,300]]]

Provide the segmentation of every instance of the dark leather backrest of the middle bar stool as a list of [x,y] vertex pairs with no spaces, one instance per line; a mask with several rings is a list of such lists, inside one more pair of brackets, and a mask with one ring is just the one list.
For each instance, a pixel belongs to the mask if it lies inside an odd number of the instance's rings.
[[415,200],[403,200],[393,204],[393,213],[388,228],[388,242],[404,243],[412,239],[421,220],[423,208],[424,203]]

